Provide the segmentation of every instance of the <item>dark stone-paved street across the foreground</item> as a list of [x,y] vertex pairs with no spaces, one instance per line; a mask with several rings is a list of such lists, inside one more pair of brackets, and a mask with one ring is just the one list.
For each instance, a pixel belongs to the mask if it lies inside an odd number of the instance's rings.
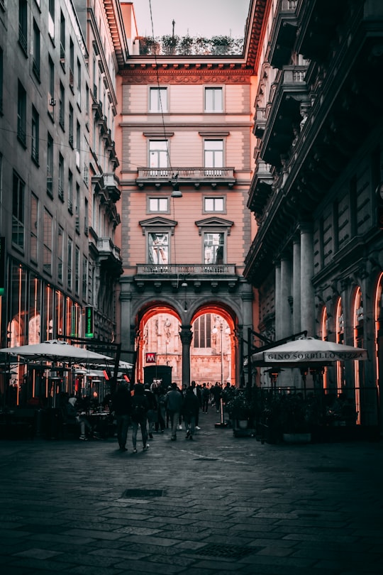
[[[2,575],[377,575],[383,444],[0,442]],[[138,434],[140,437],[140,432]],[[139,444],[138,444],[139,447]]]

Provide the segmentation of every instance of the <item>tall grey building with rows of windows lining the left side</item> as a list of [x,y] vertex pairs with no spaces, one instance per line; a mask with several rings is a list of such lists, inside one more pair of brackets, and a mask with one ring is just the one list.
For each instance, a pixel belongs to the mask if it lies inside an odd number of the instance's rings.
[[116,333],[118,23],[118,1],[0,2],[1,347],[84,337],[87,309]]

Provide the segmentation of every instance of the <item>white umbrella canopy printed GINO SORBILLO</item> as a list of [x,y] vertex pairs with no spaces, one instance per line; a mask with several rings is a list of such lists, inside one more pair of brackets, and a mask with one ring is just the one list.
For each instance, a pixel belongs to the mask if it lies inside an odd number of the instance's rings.
[[259,366],[325,366],[333,361],[365,361],[367,350],[335,344],[313,337],[288,341],[286,344],[252,354],[252,363]]

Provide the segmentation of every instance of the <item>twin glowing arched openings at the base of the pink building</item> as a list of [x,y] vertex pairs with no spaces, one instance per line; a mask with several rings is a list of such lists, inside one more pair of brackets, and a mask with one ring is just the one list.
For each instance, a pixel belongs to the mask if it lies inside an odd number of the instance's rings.
[[[237,381],[235,317],[217,304],[201,306],[187,326],[189,338],[188,380],[214,385]],[[152,305],[138,318],[136,380],[145,380],[145,368],[170,366],[172,381],[185,383],[183,359],[185,330],[181,317],[170,305]],[[160,379],[160,369],[157,370]],[[148,373],[148,372],[147,372]],[[153,370],[150,370],[153,373]]]

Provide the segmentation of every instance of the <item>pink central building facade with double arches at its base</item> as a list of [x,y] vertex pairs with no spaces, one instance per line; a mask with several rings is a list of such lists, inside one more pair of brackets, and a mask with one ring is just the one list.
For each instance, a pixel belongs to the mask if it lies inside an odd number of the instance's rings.
[[252,69],[243,54],[148,54],[139,41],[118,98],[121,344],[140,379],[157,354],[178,383],[238,384],[254,306]]

